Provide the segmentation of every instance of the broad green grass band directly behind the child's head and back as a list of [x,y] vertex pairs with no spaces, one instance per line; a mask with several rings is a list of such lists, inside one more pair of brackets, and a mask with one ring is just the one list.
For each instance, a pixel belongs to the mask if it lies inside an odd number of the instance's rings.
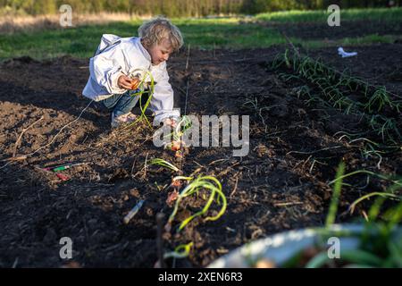
[[[248,48],[283,44],[285,40],[274,29],[257,24],[239,25],[239,20],[176,20],[185,43],[193,47],[213,49]],[[121,37],[137,36],[138,21],[114,22],[107,25],[80,26],[71,29],[39,30],[31,33],[0,35],[0,60],[21,55],[37,59],[61,55],[90,57],[104,33]]]

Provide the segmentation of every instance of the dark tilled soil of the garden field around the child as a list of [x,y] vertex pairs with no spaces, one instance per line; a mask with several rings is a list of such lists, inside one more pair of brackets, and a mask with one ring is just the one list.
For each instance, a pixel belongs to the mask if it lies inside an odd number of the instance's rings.
[[[350,128],[354,118],[306,105],[276,72],[266,70],[266,62],[283,49],[192,50],[188,71],[186,53],[170,60],[171,82],[182,113],[188,82],[187,114],[250,115],[247,156],[233,157],[232,147],[190,147],[189,154],[176,161],[171,151],[153,145],[153,131],[144,124],[111,131],[108,112],[93,104],[50,147],[26,160],[6,166],[2,162],[0,266],[67,265],[59,257],[59,241],[70,237],[73,261],[80,266],[153,267],[158,259],[155,215],[163,212],[166,222],[172,213],[166,204],[171,190],[163,187],[176,175],[156,166],[144,168],[154,157],[175,162],[185,175],[195,171],[214,175],[228,198],[220,219],[195,219],[176,233],[180,221],[205,203],[202,196],[184,201],[187,207],[180,208],[172,233],[163,235],[165,251],[194,242],[189,257],[176,261],[180,267],[208,265],[233,248],[278,231],[322,226],[331,200],[328,182],[342,158],[347,172],[366,169],[402,175],[401,151],[382,156],[378,169],[377,156],[364,158],[359,147],[334,136]],[[402,45],[353,49],[359,55],[349,59],[340,58],[332,48],[313,56],[402,94]],[[46,145],[80,114],[89,102],[80,95],[88,79],[87,65],[87,60],[70,57],[1,63],[1,159],[13,156],[22,130],[41,116],[23,133],[17,156]],[[253,109],[250,102],[258,108]],[[40,169],[71,162],[88,164],[63,171],[69,181]],[[354,214],[347,212],[348,206],[365,193],[389,185],[378,179],[366,184],[364,175],[347,182],[354,187],[343,189],[338,222],[361,218],[370,204],[358,205]],[[124,224],[124,215],[139,199],[146,200],[144,206]],[[219,207],[213,206],[214,210]],[[172,266],[172,260],[167,263]]]

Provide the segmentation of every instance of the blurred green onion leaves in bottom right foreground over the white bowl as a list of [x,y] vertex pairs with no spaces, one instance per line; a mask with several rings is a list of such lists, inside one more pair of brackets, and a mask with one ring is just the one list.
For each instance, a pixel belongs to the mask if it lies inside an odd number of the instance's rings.
[[[343,174],[344,164],[339,164],[339,169],[336,175],[334,192],[331,200],[330,211],[327,216],[326,228],[321,230],[322,241],[327,238],[336,236],[355,238],[358,240],[358,247],[351,249],[342,249],[340,257],[337,260],[328,256],[328,251],[325,249],[318,255],[313,257],[305,266],[307,268],[317,268],[326,265],[334,265],[335,261],[341,262],[345,267],[402,267],[402,233],[401,229],[397,228],[398,223],[402,220],[402,202],[397,206],[389,208],[383,212],[381,220],[378,219],[381,206],[387,198],[400,200],[400,195],[394,192],[401,189],[402,180],[393,181],[393,185],[385,192],[373,192],[364,195],[352,203],[349,210],[353,211],[356,205],[364,199],[371,197],[377,198],[373,206],[370,207],[368,221],[364,223],[363,231],[331,231],[330,226],[335,221],[337,205],[339,203],[340,189],[342,180],[349,175],[357,172]],[[364,171],[365,172],[365,171]],[[379,176],[381,179],[386,179],[384,176]],[[293,259],[292,263],[295,263]]]

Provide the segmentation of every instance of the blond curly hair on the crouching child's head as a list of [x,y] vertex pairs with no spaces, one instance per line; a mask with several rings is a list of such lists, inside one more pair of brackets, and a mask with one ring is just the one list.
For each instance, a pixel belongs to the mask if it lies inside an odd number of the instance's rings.
[[161,16],[144,22],[138,28],[138,36],[146,47],[159,45],[165,38],[171,42],[173,51],[178,51],[183,46],[180,29],[173,25],[169,19]]

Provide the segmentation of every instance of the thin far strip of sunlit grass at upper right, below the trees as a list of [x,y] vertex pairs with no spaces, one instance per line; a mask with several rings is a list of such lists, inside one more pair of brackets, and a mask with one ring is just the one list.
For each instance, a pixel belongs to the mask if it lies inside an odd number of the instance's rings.
[[[330,13],[326,11],[285,11],[275,13],[260,13],[255,18],[263,21],[278,22],[306,22],[327,21]],[[342,21],[401,21],[402,8],[379,9],[340,9],[340,23]]]

